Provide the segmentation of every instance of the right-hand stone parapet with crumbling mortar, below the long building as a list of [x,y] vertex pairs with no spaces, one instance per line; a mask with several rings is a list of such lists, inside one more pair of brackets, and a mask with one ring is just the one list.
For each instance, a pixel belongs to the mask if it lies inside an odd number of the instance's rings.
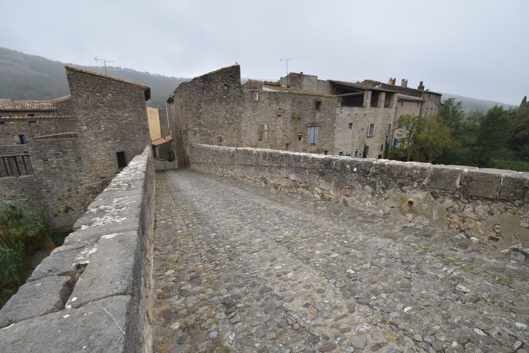
[[529,173],[190,144],[190,168],[529,246]]

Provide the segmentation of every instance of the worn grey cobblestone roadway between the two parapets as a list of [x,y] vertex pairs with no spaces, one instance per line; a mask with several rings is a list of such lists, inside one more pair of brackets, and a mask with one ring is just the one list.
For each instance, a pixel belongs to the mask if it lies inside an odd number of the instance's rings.
[[529,348],[519,252],[190,170],[156,203],[154,351]]

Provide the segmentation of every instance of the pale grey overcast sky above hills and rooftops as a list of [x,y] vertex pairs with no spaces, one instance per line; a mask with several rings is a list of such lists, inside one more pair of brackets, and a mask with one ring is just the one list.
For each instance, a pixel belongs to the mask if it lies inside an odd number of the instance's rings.
[[[2,1],[0,46],[150,73],[387,82],[519,104],[529,95],[529,1]],[[0,78],[1,79],[1,78]]]

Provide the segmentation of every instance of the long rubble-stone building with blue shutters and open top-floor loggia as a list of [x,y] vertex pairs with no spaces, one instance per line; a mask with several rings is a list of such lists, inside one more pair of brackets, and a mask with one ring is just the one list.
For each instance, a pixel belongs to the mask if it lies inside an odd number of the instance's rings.
[[290,73],[241,85],[233,65],[181,83],[167,101],[175,152],[190,142],[382,158],[399,90]]

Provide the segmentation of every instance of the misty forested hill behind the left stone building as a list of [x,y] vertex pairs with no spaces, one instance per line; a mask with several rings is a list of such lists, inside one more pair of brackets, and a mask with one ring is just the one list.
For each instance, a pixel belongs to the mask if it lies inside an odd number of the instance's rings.
[[[105,73],[101,66],[79,66],[0,48],[0,98],[53,99],[70,94],[65,65]],[[142,73],[121,67],[107,67],[107,74],[151,87],[148,106],[165,108],[167,97],[187,78]]]

